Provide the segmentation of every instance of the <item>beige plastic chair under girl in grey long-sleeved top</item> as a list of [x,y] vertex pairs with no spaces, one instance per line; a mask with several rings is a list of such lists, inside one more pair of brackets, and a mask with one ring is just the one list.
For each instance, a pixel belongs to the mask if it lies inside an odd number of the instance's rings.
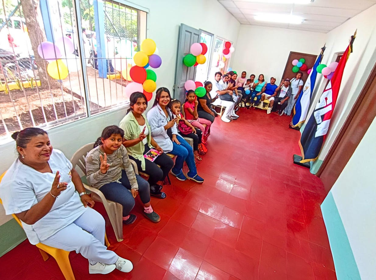
[[[78,166],[80,170],[85,174],[86,177],[86,162],[85,157],[88,154],[89,151],[92,150],[94,143],[89,143],[81,148],[79,148],[76,153],[73,154],[71,158],[71,163],[73,165],[73,168],[76,168]],[[138,169],[136,166],[136,163],[131,160],[133,169],[136,174],[138,174]],[[83,184],[86,190],[89,190],[91,192],[91,198],[94,201],[101,202],[103,206],[106,209],[107,215],[110,219],[112,228],[114,229],[115,236],[118,242],[123,241],[123,205],[107,200],[103,193],[91,186],[88,186],[87,184]]]

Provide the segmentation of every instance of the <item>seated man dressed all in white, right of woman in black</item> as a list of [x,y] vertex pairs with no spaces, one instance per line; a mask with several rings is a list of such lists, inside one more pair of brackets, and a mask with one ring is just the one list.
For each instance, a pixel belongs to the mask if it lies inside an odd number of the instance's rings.
[[[221,116],[221,120],[229,123],[233,118],[238,118],[239,116],[235,114],[234,107],[235,102],[232,98],[232,90],[227,89],[225,84],[220,84],[221,72],[215,73],[214,83],[208,82],[206,86],[206,91],[210,90],[211,98],[219,96],[218,99],[214,100],[213,105],[226,107],[224,113]],[[210,84],[209,84],[210,83]]]

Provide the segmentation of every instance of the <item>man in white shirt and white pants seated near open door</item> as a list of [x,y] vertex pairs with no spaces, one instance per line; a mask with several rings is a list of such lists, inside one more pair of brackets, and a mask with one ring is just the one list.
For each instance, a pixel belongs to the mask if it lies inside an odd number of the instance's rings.
[[[211,98],[214,98],[217,95],[224,96],[224,94],[227,94],[229,95],[228,99],[232,100],[232,91],[227,90],[226,88],[223,88],[223,85],[220,84],[221,76],[222,76],[221,72],[215,73],[213,88],[212,88],[212,91],[210,92],[210,96]],[[235,114],[234,113],[235,102],[229,101],[229,100],[227,101],[227,100],[222,100],[220,98],[217,98],[217,100],[215,100],[212,103],[215,106],[226,107],[221,117],[221,120],[224,121],[225,123],[229,123],[232,120],[232,118],[236,118],[236,116],[234,115]]]

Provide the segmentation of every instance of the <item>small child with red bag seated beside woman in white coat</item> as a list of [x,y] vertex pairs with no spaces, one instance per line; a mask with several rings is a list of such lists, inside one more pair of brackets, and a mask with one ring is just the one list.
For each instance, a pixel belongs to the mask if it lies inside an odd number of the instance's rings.
[[192,124],[190,124],[180,113],[180,106],[182,106],[180,100],[173,99],[170,103],[171,112],[174,114],[173,117],[176,117],[177,120],[177,133],[180,136],[191,138],[193,140],[193,154],[194,158],[197,160],[202,160],[199,155],[199,145],[201,145],[202,140],[202,131],[200,129],[195,129]]

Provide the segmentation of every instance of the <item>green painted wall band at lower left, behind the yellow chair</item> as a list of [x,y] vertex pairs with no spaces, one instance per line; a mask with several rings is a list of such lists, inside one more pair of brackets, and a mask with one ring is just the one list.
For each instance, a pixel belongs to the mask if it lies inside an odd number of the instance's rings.
[[0,226],[0,236],[0,257],[26,240],[25,232],[15,219]]

